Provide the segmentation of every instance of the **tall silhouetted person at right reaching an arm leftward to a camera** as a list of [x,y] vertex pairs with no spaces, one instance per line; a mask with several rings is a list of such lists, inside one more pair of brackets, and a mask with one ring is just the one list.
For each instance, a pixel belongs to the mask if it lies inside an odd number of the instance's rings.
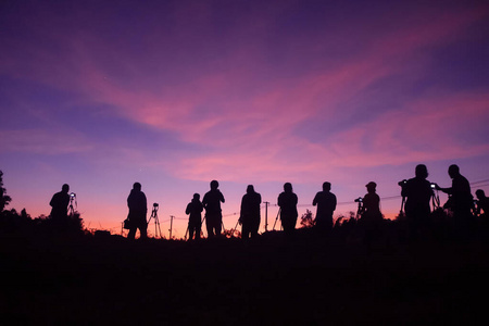
[[471,210],[474,205],[474,197],[471,193],[471,185],[468,180],[460,174],[457,165],[452,164],[448,170],[449,176],[452,178],[452,187],[441,188],[436,185],[438,190],[441,190],[450,196],[450,209],[453,212],[455,228],[461,234],[467,233],[472,223]]

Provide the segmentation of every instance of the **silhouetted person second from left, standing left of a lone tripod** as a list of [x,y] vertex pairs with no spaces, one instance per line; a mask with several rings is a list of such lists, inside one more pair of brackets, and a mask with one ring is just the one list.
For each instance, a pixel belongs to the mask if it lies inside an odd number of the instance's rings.
[[136,230],[139,228],[140,239],[148,237],[148,222],[146,215],[148,213],[148,203],[145,192],[141,191],[141,184],[135,183],[133,190],[130,190],[129,197],[127,197],[127,206],[129,208],[129,233],[127,239],[134,240],[136,237]]

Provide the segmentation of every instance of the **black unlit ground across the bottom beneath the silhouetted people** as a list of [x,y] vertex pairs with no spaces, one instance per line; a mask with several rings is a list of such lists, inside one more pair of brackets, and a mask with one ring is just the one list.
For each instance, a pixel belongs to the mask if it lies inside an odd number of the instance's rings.
[[0,325],[487,325],[480,238],[0,241]]

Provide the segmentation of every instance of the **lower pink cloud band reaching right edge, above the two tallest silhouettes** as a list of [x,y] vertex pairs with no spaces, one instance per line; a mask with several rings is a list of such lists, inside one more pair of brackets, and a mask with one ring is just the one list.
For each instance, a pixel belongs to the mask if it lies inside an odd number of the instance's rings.
[[489,97],[477,93],[410,103],[403,111],[389,112],[375,122],[337,135],[333,149],[341,154],[336,164],[397,165],[488,152],[489,143],[471,145],[463,137],[464,130],[484,135],[489,121],[488,103]]

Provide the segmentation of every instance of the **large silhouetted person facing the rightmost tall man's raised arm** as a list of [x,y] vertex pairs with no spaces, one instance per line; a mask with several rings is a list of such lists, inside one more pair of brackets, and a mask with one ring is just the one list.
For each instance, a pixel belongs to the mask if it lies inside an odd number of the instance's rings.
[[418,164],[414,174],[414,178],[400,183],[402,185],[401,195],[406,198],[404,211],[411,236],[428,226],[431,213],[429,201],[434,196],[431,184],[426,179],[428,177],[426,165]]

